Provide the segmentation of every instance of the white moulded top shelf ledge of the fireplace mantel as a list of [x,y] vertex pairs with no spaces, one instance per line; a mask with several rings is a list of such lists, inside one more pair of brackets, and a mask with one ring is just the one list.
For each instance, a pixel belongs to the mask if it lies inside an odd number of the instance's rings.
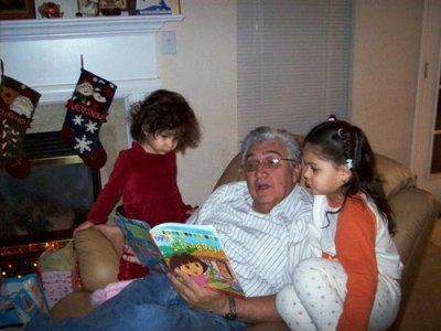
[[164,14],[0,21],[0,41],[144,34],[159,31],[165,22],[184,18]]

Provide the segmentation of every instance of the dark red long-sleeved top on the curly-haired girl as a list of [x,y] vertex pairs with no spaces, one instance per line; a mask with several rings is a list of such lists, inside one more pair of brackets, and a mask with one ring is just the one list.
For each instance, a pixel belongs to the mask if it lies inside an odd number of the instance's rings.
[[133,142],[122,150],[114,166],[87,221],[106,223],[122,195],[127,217],[148,222],[151,226],[164,222],[185,222],[190,205],[182,202],[176,183],[176,153],[151,154]]

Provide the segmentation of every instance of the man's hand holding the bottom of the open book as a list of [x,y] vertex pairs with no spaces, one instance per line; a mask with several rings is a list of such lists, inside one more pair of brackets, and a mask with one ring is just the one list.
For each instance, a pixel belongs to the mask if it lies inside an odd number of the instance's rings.
[[[179,279],[176,278],[179,276]],[[224,293],[203,288],[189,275],[176,269],[168,274],[176,291],[196,310],[211,311],[224,316],[229,311],[228,297]]]

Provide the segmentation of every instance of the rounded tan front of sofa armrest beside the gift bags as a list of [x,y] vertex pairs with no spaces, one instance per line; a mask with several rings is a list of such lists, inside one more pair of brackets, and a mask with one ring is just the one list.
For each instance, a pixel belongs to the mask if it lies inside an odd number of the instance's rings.
[[74,236],[83,289],[94,291],[118,281],[119,255],[112,244],[95,227]]

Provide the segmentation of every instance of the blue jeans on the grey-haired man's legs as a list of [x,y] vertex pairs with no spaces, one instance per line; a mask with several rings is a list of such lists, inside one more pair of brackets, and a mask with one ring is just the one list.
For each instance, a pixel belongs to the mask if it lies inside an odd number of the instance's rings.
[[128,285],[88,316],[53,321],[39,314],[25,331],[49,330],[245,330],[247,324],[190,308],[165,275],[152,274]]

